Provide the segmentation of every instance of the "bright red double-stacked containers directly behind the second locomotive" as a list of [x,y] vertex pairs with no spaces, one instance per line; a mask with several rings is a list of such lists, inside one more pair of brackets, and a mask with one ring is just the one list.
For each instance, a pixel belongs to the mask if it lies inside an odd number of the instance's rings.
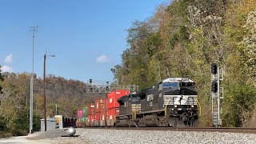
[[106,126],[114,126],[115,115],[119,114],[118,98],[129,94],[129,90],[114,90],[107,94],[107,116]]

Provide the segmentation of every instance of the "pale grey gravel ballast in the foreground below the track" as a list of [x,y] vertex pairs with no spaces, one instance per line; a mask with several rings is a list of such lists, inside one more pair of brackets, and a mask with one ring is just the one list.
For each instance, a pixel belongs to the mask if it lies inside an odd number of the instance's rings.
[[34,138],[46,138],[47,143],[256,143],[256,134],[226,132],[77,128],[75,135],[78,137],[61,137],[66,133],[64,130],[46,133]]

